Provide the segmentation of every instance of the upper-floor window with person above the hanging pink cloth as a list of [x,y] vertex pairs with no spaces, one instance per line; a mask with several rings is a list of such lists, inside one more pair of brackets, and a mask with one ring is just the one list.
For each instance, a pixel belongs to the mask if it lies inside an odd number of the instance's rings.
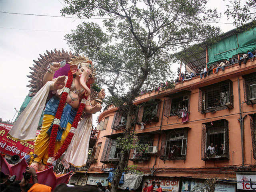
[[170,116],[174,116],[174,115],[181,116],[183,110],[188,112],[188,96],[186,95],[186,96],[172,99]]

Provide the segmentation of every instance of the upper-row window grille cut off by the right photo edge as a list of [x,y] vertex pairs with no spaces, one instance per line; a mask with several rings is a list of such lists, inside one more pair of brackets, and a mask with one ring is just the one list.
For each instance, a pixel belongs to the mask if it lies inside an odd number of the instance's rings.
[[243,76],[244,100],[246,104],[256,104],[256,73]]

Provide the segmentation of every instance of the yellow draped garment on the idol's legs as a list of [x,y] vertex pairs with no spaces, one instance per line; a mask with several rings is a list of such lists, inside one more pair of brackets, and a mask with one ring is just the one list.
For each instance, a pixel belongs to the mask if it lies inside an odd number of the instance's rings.
[[[42,160],[42,163],[45,165],[47,164],[48,160],[48,145],[50,141],[50,135],[47,134],[47,131],[50,128],[53,120],[53,115],[44,114],[42,129],[40,130],[40,134],[37,136],[35,142],[34,154],[37,154],[38,157],[34,158],[34,161],[40,163]],[[66,130],[63,130],[61,140],[55,141],[54,153],[56,153],[64,143],[70,128],[71,124],[68,122]]]

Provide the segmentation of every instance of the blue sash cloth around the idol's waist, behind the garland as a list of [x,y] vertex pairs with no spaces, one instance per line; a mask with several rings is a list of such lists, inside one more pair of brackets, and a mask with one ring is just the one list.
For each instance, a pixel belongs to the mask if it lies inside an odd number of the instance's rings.
[[[52,98],[50,98],[50,100],[47,102],[46,107],[44,109],[44,114],[55,116],[58,106],[59,106],[59,103],[60,103],[60,99],[58,97],[53,96]],[[62,112],[62,116],[60,118],[60,126],[58,128],[56,141],[61,140],[62,132],[63,132],[63,130],[66,130],[66,126],[67,126],[68,122],[70,124],[73,123],[74,118],[76,116],[76,112],[77,112],[77,110],[73,109],[70,106],[70,104],[67,104],[67,103],[65,104],[65,107]],[[52,125],[48,129],[47,134],[50,135],[51,132],[52,132]]]

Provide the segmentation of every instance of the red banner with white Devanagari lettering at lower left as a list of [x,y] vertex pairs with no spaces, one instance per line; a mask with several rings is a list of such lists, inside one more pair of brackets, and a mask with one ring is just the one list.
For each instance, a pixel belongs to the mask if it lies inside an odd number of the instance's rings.
[[7,128],[4,128],[2,125],[0,126],[0,152],[6,153],[10,156],[18,155],[20,156],[20,158],[24,157],[30,151],[33,152],[34,151],[33,141],[22,142],[22,141],[18,141],[16,139],[10,138],[10,136],[7,135],[10,130],[9,126],[10,125],[8,125]]

